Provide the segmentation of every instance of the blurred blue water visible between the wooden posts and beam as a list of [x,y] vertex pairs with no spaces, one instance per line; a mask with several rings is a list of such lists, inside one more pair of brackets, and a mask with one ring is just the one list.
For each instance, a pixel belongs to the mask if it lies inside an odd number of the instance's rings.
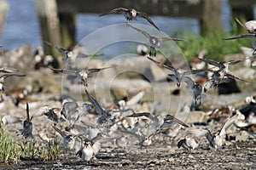
[[[0,44],[3,44],[6,49],[19,48],[26,43],[31,44],[33,49],[38,45],[42,45],[34,0],[7,1],[9,3],[9,13],[3,26]],[[226,31],[229,31],[230,7],[228,0],[223,0],[223,3],[224,27]],[[177,31],[193,32],[195,34],[200,32],[199,22],[195,19],[160,16],[152,16],[152,19],[160,27],[161,31],[164,31],[167,35],[172,35]],[[108,20],[106,20],[106,16],[99,17],[98,14],[79,14],[76,39],[79,42],[83,37],[99,28],[123,22],[124,18],[120,15],[109,15]],[[148,25],[144,20],[139,20],[139,23]]]

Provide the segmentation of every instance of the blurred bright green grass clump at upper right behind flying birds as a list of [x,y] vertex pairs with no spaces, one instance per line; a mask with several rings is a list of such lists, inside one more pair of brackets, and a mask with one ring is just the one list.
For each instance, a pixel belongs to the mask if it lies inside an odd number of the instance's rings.
[[[242,20],[244,23],[245,20]],[[207,31],[204,35],[182,34],[185,39],[183,42],[177,42],[182,49],[186,59],[195,57],[202,49],[207,49],[206,58],[214,60],[223,60],[226,54],[241,54],[240,47],[252,47],[251,38],[238,40],[224,40],[225,37],[235,37],[246,31],[235,21],[232,22],[232,33],[224,34],[219,31]]]

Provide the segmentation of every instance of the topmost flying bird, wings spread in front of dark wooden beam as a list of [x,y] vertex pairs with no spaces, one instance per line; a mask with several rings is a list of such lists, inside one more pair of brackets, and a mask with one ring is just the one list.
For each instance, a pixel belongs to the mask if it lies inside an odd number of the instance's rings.
[[[153,20],[150,19],[148,14],[137,11],[134,8],[114,8],[111,11],[109,11],[106,14],[124,14],[126,20],[137,20],[137,16],[141,17],[143,19],[148,20],[148,22],[154,26],[157,30],[160,30],[153,22]],[[100,16],[106,15],[106,14],[100,14]]]

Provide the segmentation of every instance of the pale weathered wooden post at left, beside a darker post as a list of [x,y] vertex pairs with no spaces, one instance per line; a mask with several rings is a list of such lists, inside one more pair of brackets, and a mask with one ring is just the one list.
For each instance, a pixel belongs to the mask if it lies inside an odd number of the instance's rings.
[[[38,17],[41,26],[41,34],[44,40],[56,46],[61,46],[60,21],[58,19],[57,5],[55,0],[36,0]],[[60,55],[55,48],[44,43],[44,53],[53,56]]]

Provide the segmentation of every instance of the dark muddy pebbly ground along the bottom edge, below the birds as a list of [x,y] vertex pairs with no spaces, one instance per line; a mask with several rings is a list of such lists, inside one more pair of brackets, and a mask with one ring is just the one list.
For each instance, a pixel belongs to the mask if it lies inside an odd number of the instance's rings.
[[[108,151],[107,151],[108,150]],[[256,141],[236,142],[219,150],[202,145],[197,150],[177,149],[172,142],[154,142],[148,149],[103,148],[90,162],[76,156],[60,156],[57,161],[26,160],[22,165],[0,169],[255,169]]]

